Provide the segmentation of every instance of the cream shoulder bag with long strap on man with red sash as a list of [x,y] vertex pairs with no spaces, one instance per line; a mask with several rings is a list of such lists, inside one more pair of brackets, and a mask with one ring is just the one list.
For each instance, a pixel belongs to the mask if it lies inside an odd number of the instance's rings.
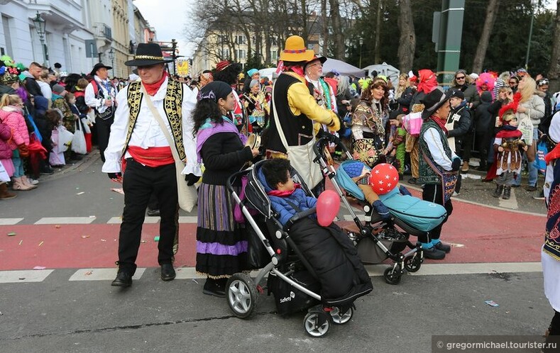
[[197,204],[197,189],[194,185],[187,185],[187,181],[185,181],[185,177],[182,174],[182,170],[185,169],[185,162],[180,159],[179,152],[177,152],[177,149],[175,148],[175,142],[171,138],[168,127],[165,126],[163,118],[155,109],[155,106],[153,106],[153,102],[148,97],[146,89],[144,89],[143,85],[141,85],[141,92],[143,94],[143,97],[146,99],[146,103],[148,104],[148,108],[150,108],[152,115],[154,116],[155,120],[158,121],[158,124],[160,124],[163,135],[165,135],[165,138],[168,140],[168,144],[171,147],[173,159],[175,159],[175,173],[177,173],[177,199],[179,201],[179,207],[184,211],[190,212],[192,211],[194,205]]

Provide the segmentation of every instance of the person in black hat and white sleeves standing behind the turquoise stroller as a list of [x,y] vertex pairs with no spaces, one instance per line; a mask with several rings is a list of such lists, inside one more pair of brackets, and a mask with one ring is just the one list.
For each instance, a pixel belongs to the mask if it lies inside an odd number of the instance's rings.
[[[457,174],[461,167],[461,159],[449,148],[447,129],[449,116],[449,99],[452,91],[445,94],[434,89],[422,99],[422,128],[420,129],[419,184],[422,186],[422,198],[426,201],[444,206],[447,215],[444,221],[429,232],[428,236],[418,237],[422,244],[424,257],[428,259],[444,259],[451,247],[439,240],[441,227],[453,211],[451,195],[455,190]],[[431,240],[430,240],[431,238]]]

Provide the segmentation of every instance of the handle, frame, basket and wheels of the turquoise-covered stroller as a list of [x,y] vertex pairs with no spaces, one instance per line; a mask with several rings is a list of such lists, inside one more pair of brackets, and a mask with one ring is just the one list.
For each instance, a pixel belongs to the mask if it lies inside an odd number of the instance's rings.
[[[327,177],[331,179],[334,189],[341,196],[342,203],[351,214],[353,222],[358,226],[358,233],[350,233],[349,236],[356,242],[358,254],[363,262],[379,264],[385,259],[391,259],[392,265],[385,269],[383,278],[388,284],[399,284],[405,269],[409,272],[416,272],[424,262],[420,245],[412,244],[409,240],[410,235],[419,236],[426,233],[413,228],[397,217],[393,217],[388,222],[383,221],[367,202],[363,204],[363,211],[366,215],[365,222],[362,223],[346,197],[344,197],[343,189],[341,189],[341,184],[344,183],[341,183],[340,175],[337,175],[334,163],[328,150],[326,150],[329,144],[339,146],[346,153],[348,159],[352,159],[352,155],[339,138],[330,134],[319,138],[313,149],[317,156],[314,162],[321,166],[325,179]],[[344,191],[348,192],[347,189],[344,189]],[[348,192],[348,194],[351,193]],[[407,248],[409,251],[403,253]]]

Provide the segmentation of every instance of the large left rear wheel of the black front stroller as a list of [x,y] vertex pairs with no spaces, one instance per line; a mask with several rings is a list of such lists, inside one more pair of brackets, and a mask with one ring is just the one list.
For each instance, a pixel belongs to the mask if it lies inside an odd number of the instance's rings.
[[226,284],[229,308],[238,318],[246,319],[255,313],[257,288],[248,274],[234,274]]

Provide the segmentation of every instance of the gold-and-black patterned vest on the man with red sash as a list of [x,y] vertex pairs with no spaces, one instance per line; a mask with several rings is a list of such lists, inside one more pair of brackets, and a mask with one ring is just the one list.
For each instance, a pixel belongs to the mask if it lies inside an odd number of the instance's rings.
[[[130,118],[128,119],[128,131],[126,133],[126,140],[123,148],[123,155],[128,147],[128,142],[131,140],[132,131],[142,103],[143,94],[140,91],[141,82],[132,82],[128,86],[128,109],[130,111]],[[148,98],[149,99],[149,98]],[[165,117],[168,118],[171,127],[171,135],[175,141],[175,148],[179,152],[179,157],[185,160],[185,145],[183,145],[182,135],[182,101],[183,101],[183,85],[173,79],[168,79],[168,89],[163,100],[163,108],[165,109]],[[163,117],[162,117],[163,118]]]

